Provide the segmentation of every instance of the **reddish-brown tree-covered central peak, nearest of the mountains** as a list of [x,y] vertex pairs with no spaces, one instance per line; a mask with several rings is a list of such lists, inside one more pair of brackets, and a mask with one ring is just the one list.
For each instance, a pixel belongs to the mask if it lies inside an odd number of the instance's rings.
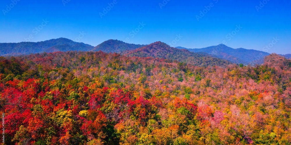
[[195,66],[225,66],[230,64],[229,61],[212,57],[206,53],[194,53],[185,49],[177,49],[160,41],[135,50],[124,52],[123,54],[126,56],[164,58]]

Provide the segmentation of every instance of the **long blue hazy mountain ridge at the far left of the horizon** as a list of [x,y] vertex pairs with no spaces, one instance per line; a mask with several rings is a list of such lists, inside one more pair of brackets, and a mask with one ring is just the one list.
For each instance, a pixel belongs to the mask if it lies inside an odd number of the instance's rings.
[[0,43],[0,56],[56,51],[89,51],[93,48],[88,44],[74,42],[67,38],[58,38],[40,42]]

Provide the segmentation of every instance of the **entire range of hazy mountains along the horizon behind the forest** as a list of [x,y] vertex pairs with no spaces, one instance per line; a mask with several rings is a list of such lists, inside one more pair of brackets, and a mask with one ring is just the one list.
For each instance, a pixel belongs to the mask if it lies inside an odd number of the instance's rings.
[[[229,63],[242,63],[245,65],[262,64],[265,56],[270,55],[267,52],[252,49],[233,49],[223,44],[200,49],[174,48],[160,41],[150,45],[137,45],[111,39],[104,41],[96,47],[74,42],[67,38],[41,42],[0,43],[0,56],[18,56],[58,51],[102,51],[106,53],[119,53],[126,56],[164,58],[198,66],[221,66]],[[291,58],[291,54],[282,56],[287,59]]]

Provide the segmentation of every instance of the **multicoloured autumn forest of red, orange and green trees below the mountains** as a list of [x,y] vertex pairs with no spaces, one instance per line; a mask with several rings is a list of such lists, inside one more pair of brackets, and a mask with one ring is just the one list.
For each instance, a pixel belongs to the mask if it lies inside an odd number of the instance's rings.
[[0,57],[6,144],[291,144],[291,61],[199,67],[103,52]]

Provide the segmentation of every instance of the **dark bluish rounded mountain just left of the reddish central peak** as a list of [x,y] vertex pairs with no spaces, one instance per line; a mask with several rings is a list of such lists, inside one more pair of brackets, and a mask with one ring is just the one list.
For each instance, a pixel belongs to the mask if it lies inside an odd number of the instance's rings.
[[123,41],[119,41],[119,40],[107,40],[104,41],[103,43],[97,45],[92,51],[102,51],[102,52],[116,52],[116,53],[121,53],[124,52],[126,50],[133,50],[139,47],[143,47],[145,45],[139,45],[139,44],[129,44],[129,43],[125,43]]

